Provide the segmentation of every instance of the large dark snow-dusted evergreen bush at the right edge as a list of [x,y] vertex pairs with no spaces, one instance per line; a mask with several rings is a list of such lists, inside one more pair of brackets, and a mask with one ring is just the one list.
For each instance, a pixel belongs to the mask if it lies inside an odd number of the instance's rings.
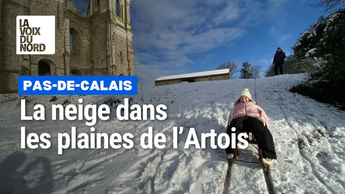
[[291,89],[345,109],[345,8],[320,17],[297,40],[294,54],[297,59],[318,59],[317,71],[309,80]]

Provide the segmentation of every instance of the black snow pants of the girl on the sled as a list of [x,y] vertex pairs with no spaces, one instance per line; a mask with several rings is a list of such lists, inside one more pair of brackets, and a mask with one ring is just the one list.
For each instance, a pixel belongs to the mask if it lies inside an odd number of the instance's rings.
[[[231,128],[235,127],[234,132],[231,131]],[[226,133],[230,136],[231,133],[236,133],[236,140],[238,134],[241,132],[251,132],[254,134],[255,141],[258,143],[259,148],[262,149],[262,154],[264,158],[277,159],[275,154],[275,148],[273,143],[273,137],[271,132],[267,128],[267,125],[264,126],[264,123],[255,117],[238,117],[233,119],[227,126]],[[236,142],[237,144],[237,142]],[[234,149],[231,148],[231,142],[228,148],[225,149],[227,154],[233,153]]]

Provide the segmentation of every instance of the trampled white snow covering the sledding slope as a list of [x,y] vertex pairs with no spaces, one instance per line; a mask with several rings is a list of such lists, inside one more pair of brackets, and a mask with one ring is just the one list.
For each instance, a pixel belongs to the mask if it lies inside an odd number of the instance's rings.
[[[311,98],[290,93],[291,86],[305,74],[269,78],[234,79],[182,83],[142,88],[132,103],[165,104],[165,121],[119,121],[114,109],[108,121],[98,121],[96,132],[134,135],[132,149],[66,149],[57,155],[57,133],[90,133],[85,121],[20,121],[20,99],[27,102],[27,114],[34,104],[45,107],[69,99],[78,104],[103,103],[112,96],[0,96],[0,191],[7,193],[268,193],[259,164],[236,161],[230,184],[224,188],[227,159],[224,150],[184,149],[188,129],[200,133],[215,129],[225,132],[228,113],[239,93],[247,87],[254,100],[270,117],[277,163],[271,176],[277,193],[344,193],[345,112]],[[255,85],[257,95],[255,97]],[[128,96],[127,96],[128,97]],[[115,98],[120,98],[115,96]],[[142,100],[143,99],[143,100]],[[113,106],[115,108],[115,106]],[[49,132],[49,149],[21,149],[20,127],[27,133]],[[162,132],[164,149],[143,149],[140,135]],[[172,148],[173,126],[183,126],[177,149]],[[240,150],[239,160],[258,161],[255,147]]]

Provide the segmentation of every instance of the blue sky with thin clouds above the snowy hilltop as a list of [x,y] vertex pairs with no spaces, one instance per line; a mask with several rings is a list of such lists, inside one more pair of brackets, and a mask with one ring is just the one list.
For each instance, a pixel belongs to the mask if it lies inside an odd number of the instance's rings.
[[[86,15],[88,0],[73,0]],[[132,0],[141,85],[173,74],[248,61],[266,71],[277,47],[292,53],[300,33],[324,15],[314,0]],[[236,74],[235,76],[238,76]]]

